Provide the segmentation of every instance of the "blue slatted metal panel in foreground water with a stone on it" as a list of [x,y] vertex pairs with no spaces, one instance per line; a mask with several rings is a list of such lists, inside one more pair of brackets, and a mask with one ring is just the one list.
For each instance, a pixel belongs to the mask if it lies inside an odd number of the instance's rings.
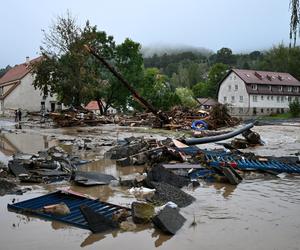
[[[69,207],[71,212],[70,214],[59,216],[45,213],[42,210],[44,206],[58,204],[61,202],[64,202]],[[24,214],[33,214],[48,220],[57,220],[76,227],[89,229],[87,222],[79,209],[81,205],[91,207],[95,212],[108,218],[111,218],[114,213],[123,209],[128,211],[130,210],[127,207],[102,202],[96,199],[89,199],[62,191],[56,191],[54,193],[46,194],[15,204],[8,204],[7,207],[11,211]]]

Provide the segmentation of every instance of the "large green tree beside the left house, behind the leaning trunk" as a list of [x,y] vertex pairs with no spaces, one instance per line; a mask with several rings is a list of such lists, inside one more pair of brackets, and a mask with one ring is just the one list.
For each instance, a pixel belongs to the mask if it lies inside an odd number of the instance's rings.
[[57,94],[62,103],[74,106],[97,100],[103,113],[110,106],[121,110],[128,107],[128,90],[85,51],[83,45],[92,46],[129,82],[138,86],[143,78],[143,59],[138,43],[126,39],[116,45],[112,36],[98,31],[88,21],[83,29],[79,28],[68,14],[58,17],[50,34],[44,33],[43,44],[44,59],[34,67],[34,86],[42,89],[45,95]]

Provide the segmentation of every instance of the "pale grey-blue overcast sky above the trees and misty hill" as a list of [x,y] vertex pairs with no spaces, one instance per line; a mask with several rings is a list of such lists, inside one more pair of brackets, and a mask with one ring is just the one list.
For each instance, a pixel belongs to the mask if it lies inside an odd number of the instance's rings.
[[289,0],[7,0],[0,4],[0,68],[38,55],[42,29],[67,10],[119,43],[234,52],[289,42]]

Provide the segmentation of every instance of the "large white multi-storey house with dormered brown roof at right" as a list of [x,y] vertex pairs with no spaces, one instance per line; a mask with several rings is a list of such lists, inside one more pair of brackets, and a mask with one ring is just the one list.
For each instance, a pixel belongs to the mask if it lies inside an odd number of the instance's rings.
[[218,89],[218,102],[227,104],[234,116],[283,113],[296,99],[300,99],[300,82],[281,72],[232,69]]

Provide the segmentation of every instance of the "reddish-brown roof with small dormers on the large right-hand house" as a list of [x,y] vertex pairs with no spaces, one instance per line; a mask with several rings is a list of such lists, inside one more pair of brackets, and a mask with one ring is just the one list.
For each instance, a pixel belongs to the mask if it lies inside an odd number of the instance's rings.
[[232,69],[245,83],[300,86],[300,82],[289,73]]

